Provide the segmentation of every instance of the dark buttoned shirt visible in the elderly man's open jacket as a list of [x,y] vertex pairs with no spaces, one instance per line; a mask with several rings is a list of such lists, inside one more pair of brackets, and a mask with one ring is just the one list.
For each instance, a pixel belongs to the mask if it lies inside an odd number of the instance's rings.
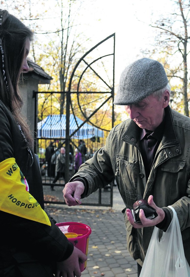
[[164,134],[165,120],[154,131],[141,129],[140,131],[140,149],[143,157],[146,180],[151,171],[151,167],[156,155],[156,151]]

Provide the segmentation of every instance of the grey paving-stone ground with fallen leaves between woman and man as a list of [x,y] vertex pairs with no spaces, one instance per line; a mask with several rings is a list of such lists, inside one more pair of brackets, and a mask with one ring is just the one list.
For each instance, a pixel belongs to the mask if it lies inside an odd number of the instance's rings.
[[123,200],[113,188],[113,207],[45,204],[59,222],[80,222],[91,227],[87,267],[82,277],[137,277],[137,263],[126,249],[126,230],[121,210]]

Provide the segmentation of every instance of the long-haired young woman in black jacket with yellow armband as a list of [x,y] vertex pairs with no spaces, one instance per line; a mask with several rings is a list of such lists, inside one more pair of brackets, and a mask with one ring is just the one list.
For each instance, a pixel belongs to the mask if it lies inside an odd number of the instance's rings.
[[[32,32],[0,9],[0,276],[81,276],[86,256],[68,242],[44,211],[33,139],[18,92]],[[55,271],[53,271],[55,270]]]

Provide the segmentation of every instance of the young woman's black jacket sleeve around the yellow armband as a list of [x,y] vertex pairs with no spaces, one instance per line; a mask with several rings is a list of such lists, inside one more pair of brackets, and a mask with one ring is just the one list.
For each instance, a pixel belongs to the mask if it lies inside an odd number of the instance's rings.
[[[42,178],[34,152],[32,152],[34,160],[32,163],[26,141],[11,112],[1,101],[0,129],[0,163],[6,159],[15,158],[29,184],[30,194],[44,209]],[[5,247],[7,244],[12,253],[22,250],[25,253],[33,253],[34,258],[46,259],[46,261],[67,259],[74,247],[55,225],[53,218],[49,218],[51,226],[0,210],[1,238],[7,238],[4,241]]]

